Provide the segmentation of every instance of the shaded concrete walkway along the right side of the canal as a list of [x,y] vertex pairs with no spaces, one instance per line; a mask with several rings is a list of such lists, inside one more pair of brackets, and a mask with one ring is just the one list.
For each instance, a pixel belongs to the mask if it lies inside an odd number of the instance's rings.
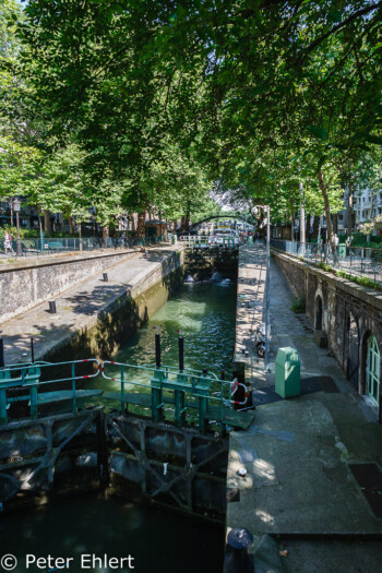
[[[350,465],[382,467],[382,427],[327,349],[315,345],[307,318],[290,310],[293,295],[274,262],[271,373],[265,374],[251,326],[262,317],[264,255],[256,246],[240,249],[236,359],[246,362],[256,410],[249,430],[230,433],[227,528],[246,527],[255,536],[256,572],[377,571],[382,548],[371,536],[382,534],[382,522]],[[297,348],[301,360],[303,394],[297,398],[273,392],[277,349],[285,346]],[[344,535],[350,536],[350,550]],[[307,536],[326,540],[315,545]],[[286,552],[280,556],[279,549]]]

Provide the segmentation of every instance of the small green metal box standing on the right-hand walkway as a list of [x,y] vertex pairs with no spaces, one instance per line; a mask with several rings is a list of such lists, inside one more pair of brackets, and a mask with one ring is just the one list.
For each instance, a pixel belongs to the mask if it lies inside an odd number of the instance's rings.
[[275,392],[283,398],[299,396],[300,383],[300,358],[296,348],[287,346],[278,348],[275,369]]

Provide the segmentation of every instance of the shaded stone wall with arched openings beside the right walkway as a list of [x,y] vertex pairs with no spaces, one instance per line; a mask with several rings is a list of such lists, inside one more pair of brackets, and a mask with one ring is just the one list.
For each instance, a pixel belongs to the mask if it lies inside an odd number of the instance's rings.
[[[327,345],[354,386],[366,394],[367,348],[372,335],[382,349],[382,293],[276,250],[273,255],[294,293],[305,298],[317,343]],[[382,371],[382,360],[380,366]]]

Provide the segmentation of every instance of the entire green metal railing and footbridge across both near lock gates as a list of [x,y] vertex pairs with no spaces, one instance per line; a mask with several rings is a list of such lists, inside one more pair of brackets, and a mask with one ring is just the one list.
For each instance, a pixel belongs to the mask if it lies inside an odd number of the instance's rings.
[[[99,372],[105,380],[119,383],[119,391],[106,393],[106,387],[79,387],[80,382],[95,379]],[[243,395],[241,401],[237,397],[239,389]],[[170,417],[177,427],[198,422],[201,432],[208,421],[222,428],[244,427],[248,421],[232,409],[234,404],[244,405],[248,398],[247,387],[237,380],[230,382],[207,371],[179,370],[171,366],[134,366],[109,360],[100,365],[97,359],[88,358],[0,368],[0,426],[9,423],[10,410],[11,421],[25,417],[25,402],[29,417],[36,419],[41,406],[60,406],[60,411],[75,413],[80,399],[95,396],[119,402],[122,413],[127,413],[129,406],[148,409],[155,422],[168,419],[167,411],[171,410]]]

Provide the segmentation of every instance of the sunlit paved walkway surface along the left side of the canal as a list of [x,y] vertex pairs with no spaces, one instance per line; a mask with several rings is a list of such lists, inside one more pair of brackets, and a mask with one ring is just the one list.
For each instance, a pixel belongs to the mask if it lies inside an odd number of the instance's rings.
[[64,344],[71,336],[84,327],[91,327],[100,312],[123,295],[135,296],[140,287],[160,266],[178,247],[167,246],[131,253],[107,270],[108,282],[99,275],[85,278],[84,282],[61,293],[56,298],[57,314],[50,314],[48,302],[43,302],[23,315],[3,322],[0,336],[4,339],[5,363],[19,363],[31,357],[31,337],[35,342],[35,358],[41,358],[47,351]]

